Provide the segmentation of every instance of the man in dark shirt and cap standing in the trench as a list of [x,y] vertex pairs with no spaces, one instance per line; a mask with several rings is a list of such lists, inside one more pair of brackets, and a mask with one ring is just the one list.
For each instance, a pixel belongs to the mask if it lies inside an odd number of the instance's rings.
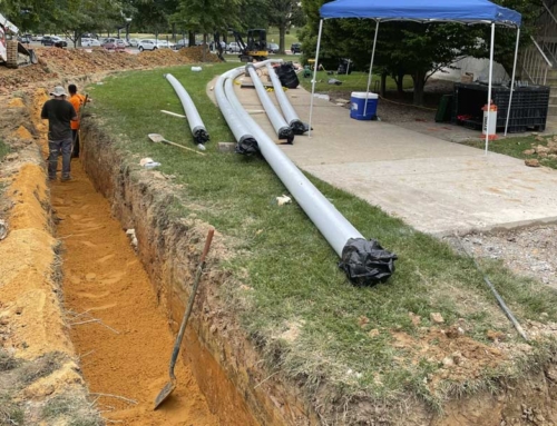
[[48,120],[48,178],[56,180],[56,168],[58,167],[58,155],[62,152],[62,177],[61,181],[70,180],[70,161],[72,133],[70,122],[77,120],[74,106],[66,100],[66,90],[57,86],[50,92],[53,99],[47,100],[42,106],[40,118]]

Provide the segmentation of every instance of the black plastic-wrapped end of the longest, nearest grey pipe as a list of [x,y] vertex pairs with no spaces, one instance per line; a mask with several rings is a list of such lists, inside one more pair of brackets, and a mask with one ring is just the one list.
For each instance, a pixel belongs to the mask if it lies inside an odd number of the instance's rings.
[[374,239],[350,238],[342,249],[339,267],[355,286],[374,286],[394,274],[395,254],[387,251]]

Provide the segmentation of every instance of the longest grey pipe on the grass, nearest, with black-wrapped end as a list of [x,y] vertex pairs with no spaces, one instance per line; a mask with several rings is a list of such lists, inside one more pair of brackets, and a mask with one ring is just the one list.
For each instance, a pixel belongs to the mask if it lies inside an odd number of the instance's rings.
[[[233,107],[237,107],[240,101],[234,93],[232,80],[241,73],[242,69],[233,69],[221,76],[228,80],[225,83],[225,90]],[[348,277],[358,285],[373,285],[387,280],[394,273],[397,255],[383,250],[375,240],[364,239],[252,117],[243,108],[235,108],[235,110],[257,139],[260,151],[271,168],[341,257],[339,266]]]

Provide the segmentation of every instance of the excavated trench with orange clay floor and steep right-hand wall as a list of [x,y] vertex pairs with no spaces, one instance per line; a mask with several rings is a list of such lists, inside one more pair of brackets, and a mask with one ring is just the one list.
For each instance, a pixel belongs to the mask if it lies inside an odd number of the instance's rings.
[[[229,275],[218,229],[176,367],[168,363],[209,224],[170,220],[173,188],[86,120],[72,181],[51,185],[57,237],[63,241],[63,295],[70,336],[102,416],[130,425],[317,424],[292,387],[261,363],[218,296]],[[155,178],[154,178],[155,177]],[[158,178],[157,178],[158,177]],[[134,229],[135,247],[126,230]]]

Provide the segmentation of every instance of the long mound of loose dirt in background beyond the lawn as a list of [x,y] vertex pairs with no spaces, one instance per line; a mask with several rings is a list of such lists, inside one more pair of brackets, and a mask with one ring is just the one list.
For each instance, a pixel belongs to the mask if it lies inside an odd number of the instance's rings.
[[195,62],[217,62],[218,58],[203,52],[202,47],[178,51],[163,49],[131,55],[110,52],[105,49],[57,49],[38,48],[39,63],[17,70],[0,67],[0,95],[26,88],[33,82],[69,76],[84,76],[123,69],[170,67]]

